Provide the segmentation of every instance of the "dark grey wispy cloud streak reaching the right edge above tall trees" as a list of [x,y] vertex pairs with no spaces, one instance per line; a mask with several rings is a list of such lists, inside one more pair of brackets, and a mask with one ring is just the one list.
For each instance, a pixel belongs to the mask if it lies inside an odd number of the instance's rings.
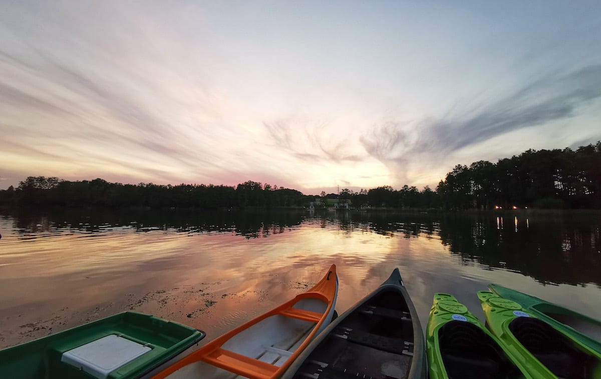
[[426,152],[451,153],[501,134],[572,118],[601,97],[601,65],[524,85],[499,101],[479,106],[463,116],[423,119],[407,124],[388,122],[362,137],[365,150],[379,160],[404,163]]

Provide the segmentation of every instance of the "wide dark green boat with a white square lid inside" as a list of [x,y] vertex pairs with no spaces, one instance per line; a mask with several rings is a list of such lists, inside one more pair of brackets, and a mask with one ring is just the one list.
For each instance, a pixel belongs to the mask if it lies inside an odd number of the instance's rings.
[[0,378],[150,377],[204,336],[182,324],[123,312],[0,350]]

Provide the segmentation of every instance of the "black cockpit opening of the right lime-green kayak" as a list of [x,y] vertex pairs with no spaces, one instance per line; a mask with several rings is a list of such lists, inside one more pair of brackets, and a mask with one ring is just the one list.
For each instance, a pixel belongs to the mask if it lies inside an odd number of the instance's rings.
[[509,330],[526,350],[557,377],[599,378],[601,361],[545,321],[516,317],[509,324]]

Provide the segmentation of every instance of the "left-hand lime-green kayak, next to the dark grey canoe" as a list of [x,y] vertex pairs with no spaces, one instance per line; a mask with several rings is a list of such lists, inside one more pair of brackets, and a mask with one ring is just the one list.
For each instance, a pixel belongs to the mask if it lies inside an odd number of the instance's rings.
[[430,379],[533,378],[526,366],[447,293],[436,293],[426,329]]

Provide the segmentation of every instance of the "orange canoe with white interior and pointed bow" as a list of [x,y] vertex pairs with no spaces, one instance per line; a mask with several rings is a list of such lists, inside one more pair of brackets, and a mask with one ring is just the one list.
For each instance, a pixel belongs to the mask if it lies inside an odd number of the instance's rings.
[[337,294],[332,264],[307,292],[216,338],[153,378],[277,378],[332,321]]

